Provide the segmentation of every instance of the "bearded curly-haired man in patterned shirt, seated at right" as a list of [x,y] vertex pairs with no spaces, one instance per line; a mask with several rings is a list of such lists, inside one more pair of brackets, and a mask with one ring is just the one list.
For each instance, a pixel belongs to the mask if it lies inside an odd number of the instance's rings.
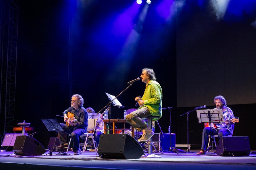
[[[213,102],[216,105],[216,108],[214,109],[222,109],[224,123],[214,124],[213,127],[211,126],[211,135],[218,135],[219,138],[221,138],[222,136],[228,136],[231,134],[232,124],[234,124],[230,121],[234,118],[233,111],[227,106],[227,101],[223,96],[216,96]],[[209,135],[210,127],[205,127],[202,135],[202,147],[201,151],[197,152],[198,155],[204,154]]]

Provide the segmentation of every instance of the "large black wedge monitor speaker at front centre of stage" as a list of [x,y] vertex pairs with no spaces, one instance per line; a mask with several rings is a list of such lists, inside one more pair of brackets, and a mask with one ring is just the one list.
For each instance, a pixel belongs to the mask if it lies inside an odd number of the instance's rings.
[[130,135],[101,134],[98,154],[101,158],[138,159],[144,154],[144,151]]

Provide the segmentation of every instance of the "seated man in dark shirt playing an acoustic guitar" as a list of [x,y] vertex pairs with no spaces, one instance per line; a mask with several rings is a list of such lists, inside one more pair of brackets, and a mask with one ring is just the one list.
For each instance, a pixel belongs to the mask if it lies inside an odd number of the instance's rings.
[[[67,134],[71,135],[73,140],[73,151],[75,155],[80,154],[79,136],[86,133],[88,126],[88,113],[83,107],[84,99],[80,95],[73,95],[71,98],[71,107],[63,112],[64,122],[60,123],[64,131],[58,131],[60,146],[58,148],[68,147]],[[75,122],[68,118],[68,114],[74,114]]]

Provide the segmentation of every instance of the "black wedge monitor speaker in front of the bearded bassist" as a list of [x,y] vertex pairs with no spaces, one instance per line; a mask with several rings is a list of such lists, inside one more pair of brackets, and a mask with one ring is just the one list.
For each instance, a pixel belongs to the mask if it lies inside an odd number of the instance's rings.
[[249,137],[223,136],[216,147],[216,154],[219,156],[248,156],[250,152]]

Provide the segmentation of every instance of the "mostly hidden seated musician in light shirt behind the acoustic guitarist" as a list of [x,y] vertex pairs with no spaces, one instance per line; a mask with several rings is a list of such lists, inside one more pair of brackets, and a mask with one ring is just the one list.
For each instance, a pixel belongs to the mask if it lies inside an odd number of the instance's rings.
[[[88,113],[95,113],[94,109],[92,109],[91,107],[86,108],[86,111],[87,111]],[[100,113],[99,113],[99,114],[100,114]],[[103,117],[102,114],[100,114],[100,123],[97,123],[97,124],[96,124],[96,127],[95,127],[95,142],[97,142],[97,143],[95,144],[96,147],[97,147],[97,145],[99,144],[100,135],[101,135],[102,133],[104,133],[104,124],[103,124],[103,121],[102,121],[102,120],[104,120],[104,117]],[[82,136],[80,136],[80,138],[85,140],[85,139],[86,139],[86,135],[82,135]],[[88,138],[86,143],[90,144],[90,141],[91,141],[90,138]],[[92,142],[92,141],[91,141],[91,142]],[[92,145],[92,146],[94,147],[94,145]]]

